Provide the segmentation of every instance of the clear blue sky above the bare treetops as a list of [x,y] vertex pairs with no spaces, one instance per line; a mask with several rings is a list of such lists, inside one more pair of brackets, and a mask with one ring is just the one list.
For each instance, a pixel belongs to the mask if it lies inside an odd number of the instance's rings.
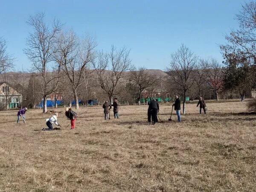
[[236,29],[234,20],[248,0],[1,0],[0,36],[13,54],[16,71],[28,70],[23,54],[31,28],[30,15],[44,12],[47,22],[58,18],[78,35],[96,37],[97,49],[111,45],[131,49],[135,66],[165,69],[170,54],[183,43],[201,58],[222,56],[218,44]]

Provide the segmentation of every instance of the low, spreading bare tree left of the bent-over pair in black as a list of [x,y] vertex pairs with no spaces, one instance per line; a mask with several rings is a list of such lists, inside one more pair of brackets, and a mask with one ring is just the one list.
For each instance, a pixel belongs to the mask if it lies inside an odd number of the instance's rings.
[[156,86],[159,79],[159,76],[149,74],[145,67],[140,67],[138,70],[136,68],[131,70],[130,80],[136,87],[138,105],[140,105],[143,92],[149,87]]

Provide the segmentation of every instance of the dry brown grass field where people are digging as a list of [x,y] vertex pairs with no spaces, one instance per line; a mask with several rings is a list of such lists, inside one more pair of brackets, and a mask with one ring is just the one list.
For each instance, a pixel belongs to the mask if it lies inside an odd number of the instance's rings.
[[58,108],[62,130],[41,131],[49,114],[0,112],[0,192],[191,192],[256,190],[256,116],[246,102],[196,104],[177,123],[171,105],[148,125],[147,106],[121,106],[104,121],[101,106],[81,108],[77,128]]

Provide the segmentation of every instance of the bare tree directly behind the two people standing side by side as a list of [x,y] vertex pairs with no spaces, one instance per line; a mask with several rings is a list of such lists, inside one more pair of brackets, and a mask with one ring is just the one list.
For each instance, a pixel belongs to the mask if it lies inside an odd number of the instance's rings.
[[[110,101],[119,92],[117,85],[123,78],[124,72],[131,68],[129,53],[130,51],[125,47],[116,50],[112,46],[109,53],[98,52],[97,61],[92,64],[96,83],[105,91]],[[109,65],[111,68],[107,70]]]

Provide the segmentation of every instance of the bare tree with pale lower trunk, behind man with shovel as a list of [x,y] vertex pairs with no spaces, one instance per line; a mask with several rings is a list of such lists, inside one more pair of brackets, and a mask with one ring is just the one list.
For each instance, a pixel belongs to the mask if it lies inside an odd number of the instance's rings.
[[198,60],[198,57],[189,50],[185,45],[171,55],[169,76],[173,84],[180,88],[183,92],[183,114],[186,113],[186,92],[192,86],[194,79],[192,78],[192,70]]

